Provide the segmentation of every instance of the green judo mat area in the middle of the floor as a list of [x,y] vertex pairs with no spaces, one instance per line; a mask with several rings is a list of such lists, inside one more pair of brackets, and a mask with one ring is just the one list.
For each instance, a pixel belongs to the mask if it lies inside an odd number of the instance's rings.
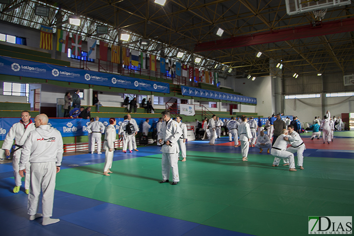
[[353,215],[354,159],[305,157],[290,172],[271,155],[248,157],[188,151],[176,186],[158,183],[161,155],[114,161],[111,176],[104,163],[80,166],[61,170],[56,189],[257,236],[308,235],[308,216]]

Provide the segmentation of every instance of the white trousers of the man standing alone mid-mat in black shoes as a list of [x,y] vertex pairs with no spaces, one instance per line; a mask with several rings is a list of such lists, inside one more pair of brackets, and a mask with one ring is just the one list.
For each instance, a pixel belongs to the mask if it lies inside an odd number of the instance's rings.
[[173,182],[179,182],[178,176],[178,153],[162,153],[162,179],[170,179],[172,169]]

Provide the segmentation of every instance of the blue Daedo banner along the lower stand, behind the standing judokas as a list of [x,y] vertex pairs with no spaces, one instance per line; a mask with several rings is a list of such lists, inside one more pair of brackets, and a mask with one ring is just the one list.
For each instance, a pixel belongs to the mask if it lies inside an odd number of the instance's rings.
[[[115,129],[118,132],[119,126],[124,121],[123,118],[115,118],[117,124]],[[34,122],[34,119],[31,119]],[[100,118],[99,121],[103,123],[104,126],[108,126],[110,118]],[[149,132],[152,132],[156,126],[156,122],[159,118],[150,118],[149,125],[151,126]],[[17,122],[20,121],[20,118],[0,118],[0,140],[5,140],[7,133],[10,128]],[[143,123],[145,118],[136,118],[136,124],[139,126],[140,131],[142,132]],[[73,137],[73,136],[85,136],[88,135],[87,126],[90,124],[90,120],[85,119],[50,119],[48,125],[56,128],[60,131],[63,137]]]

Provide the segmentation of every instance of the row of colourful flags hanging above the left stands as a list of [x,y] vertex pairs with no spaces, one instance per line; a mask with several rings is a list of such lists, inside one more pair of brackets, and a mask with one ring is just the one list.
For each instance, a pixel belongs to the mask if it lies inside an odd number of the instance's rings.
[[[71,38],[71,54],[75,56],[81,56],[81,45],[82,36],[79,34],[72,34]],[[100,41],[99,42],[99,59],[101,61],[108,61],[108,43]],[[69,32],[58,29],[57,30],[57,51],[67,53],[69,47]],[[40,48],[52,50],[53,49],[53,28],[47,26],[41,26],[41,40]],[[157,71],[157,61],[155,55],[148,55],[146,53],[122,47],[112,45],[111,47],[111,62],[117,64],[124,64],[127,66],[139,66],[141,64],[142,69],[147,69],[147,64],[149,64],[149,69],[151,71]],[[87,39],[87,57],[91,59],[96,59],[97,51],[97,40]],[[122,62],[120,61],[120,53],[122,53]],[[167,69],[166,69],[167,68]],[[194,79],[195,81],[202,81],[206,83],[217,84],[219,82],[219,75],[217,72],[211,72],[206,70],[199,70],[193,66],[188,66],[186,64],[173,63],[168,60],[168,65],[166,65],[166,59],[160,58],[160,72],[165,74],[168,70],[168,74],[171,76],[182,76],[189,79]]]

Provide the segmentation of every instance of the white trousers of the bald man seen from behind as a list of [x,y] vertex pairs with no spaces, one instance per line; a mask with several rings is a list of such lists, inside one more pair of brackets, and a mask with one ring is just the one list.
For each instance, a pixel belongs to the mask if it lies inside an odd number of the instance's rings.
[[43,217],[51,217],[53,212],[55,178],[57,168],[55,161],[31,163],[31,186],[28,194],[28,214],[35,215],[38,211],[41,190]]

